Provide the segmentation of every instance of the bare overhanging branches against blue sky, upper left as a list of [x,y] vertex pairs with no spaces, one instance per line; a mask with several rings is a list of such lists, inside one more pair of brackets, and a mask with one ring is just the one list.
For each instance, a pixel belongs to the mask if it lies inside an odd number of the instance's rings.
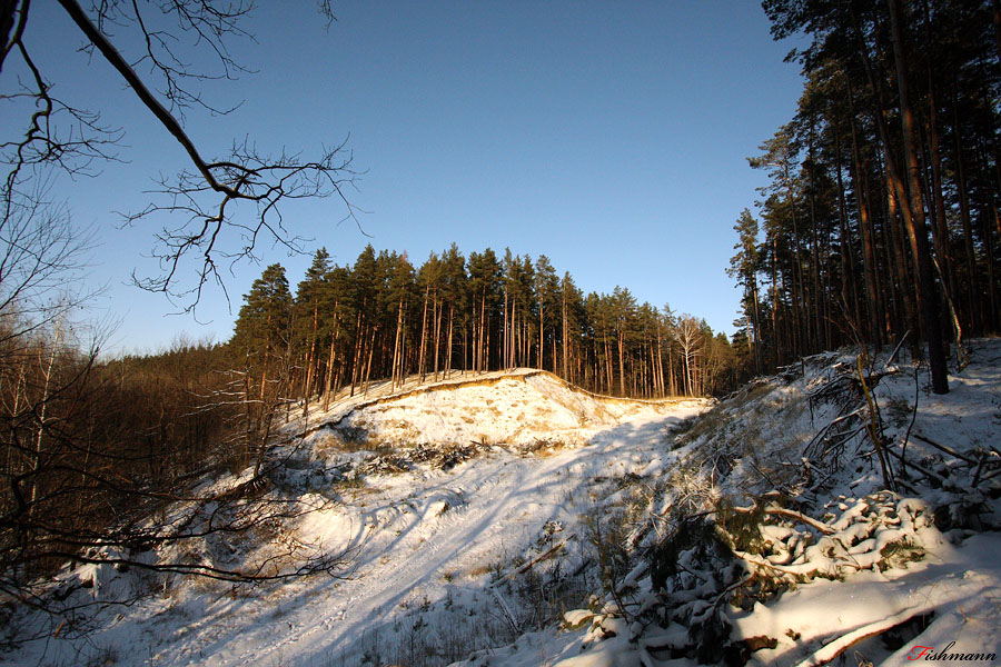
[[[354,183],[356,173],[344,142],[323,146],[315,157],[306,158],[284,149],[261,151],[242,140],[234,142],[228,155],[209,159],[182,127],[191,109],[214,115],[232,110],[206,101],[199,84],[246,72],[231,56],[229,43],[251,38],[242,27],[251,2],[106,0],[89,10],[76,0],[59,0],[59,4],[79,29],[83,50],[113,68],[153,122],[188,156],[188,169],[161,178],[155,200],[126,215],[128,222],[160,213],[169,220],[156,235],[152,249],[160,272],[133,276],[138,286],[179,298],[190,310],[207,283],[221,286],[220,261],[254,258],[264,239],[301,250],[301,239],[283,222],[281,208],[289,200],[334,197],[341,202],[345,218],[355,217],[345,188]],[[329,0],[320,0],[318,7],[328,20],[334,19]],[[30,20],[30,0],[0,1],[0,72],[6,74],[0,80],[4,83],[0,101],[26,119],[20,135],[0,137],[0,161],[7,168],[4,218],[14,215],[19,202],[30,199],[34,185],[49,173],[92,173],[96,161],[116,159],[122,137],[121,130],[102,123],[99,112],[79,109],[54,93],[56,86],[37,67],[24,39],[27,32],[43,28]],[[140,51],[123,54],[112,40],[112,29],[138,37]],[[18,76],[16,84],[12,61],[28,73],[23,79]],[[188,64],[195,61],[209,64],[195,70]],[[140,77],[140,68],[148,71],[146,78]]]

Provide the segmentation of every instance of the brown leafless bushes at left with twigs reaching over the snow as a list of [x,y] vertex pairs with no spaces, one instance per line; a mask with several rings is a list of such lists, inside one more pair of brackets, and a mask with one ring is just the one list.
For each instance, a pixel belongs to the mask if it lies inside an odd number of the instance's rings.
[[[14,342],[23,354],[7,354]],[[291,531],[272,539],[320,507],[281,481],[293,448],[257,454],[255,475],[239,482],[196,490],[206,468],[180,472],[175,459],[184,436],[165,437],[169,428],[162,427],[170,425],[137,409],[167,402],[170,384],[121,377],[98,362],[98,352],[68,322],[0,348],[0,599],[76,618],[81,606],[129,604],[130,596],[151,591],[99,600],[81,595],[79,584],[53,585],[51,575],[66,563],[145,570],[161,575],[153,579],[161,583],[168,574],[259,583],[346,571],[343,547],[305,544]],[[245,402],[225,391],[214,399],[197,410],[215,412],[220,422]],[[218,464],[209,470],[225,467],[228,444],[221,425],[201,462]],[[239,554],[219,551],[220,540]],[[86,629],[73,624],[67,630]]]

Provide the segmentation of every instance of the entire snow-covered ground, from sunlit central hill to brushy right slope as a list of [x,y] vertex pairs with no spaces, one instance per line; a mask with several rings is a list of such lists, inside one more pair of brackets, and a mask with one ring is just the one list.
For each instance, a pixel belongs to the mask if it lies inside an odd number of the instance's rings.
[[[102,611],[85,638],[22,610],[10,628],[44,638],[0,661],[579,667],[896,664],[914,646],[931,647],[921,659],[1001,654],[1001,341],[974,341],[944,397],[912,365],[865,366],[896,492],[868,437],[856,356],[811,359],[714,407],[595,397],[538,371],[373,388],[288,425],[270,492],[315,509],[258,546],[291,536],[344,551],[337,577],[146,581],[148,595]],[[138,574],[108,566],[61,577],[90,581],[76,596],[141,588]]]

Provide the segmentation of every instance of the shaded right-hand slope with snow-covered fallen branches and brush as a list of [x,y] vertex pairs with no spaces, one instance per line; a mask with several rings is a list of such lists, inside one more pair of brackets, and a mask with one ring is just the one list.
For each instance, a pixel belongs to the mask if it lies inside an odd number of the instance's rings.
[[831,354],[722,401],[578,629],[465,664],[997,664],[1001,341],[971,344],[949,395],[926,374]]

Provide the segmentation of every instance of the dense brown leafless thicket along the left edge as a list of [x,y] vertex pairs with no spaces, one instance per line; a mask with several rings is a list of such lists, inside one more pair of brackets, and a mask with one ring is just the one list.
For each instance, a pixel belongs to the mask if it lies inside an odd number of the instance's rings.
[[39,574],[165,544],[140,527],[150,512],[247,460],[231,428],[241,411],[220,400],[221,351],[100,362],[61,317],[0,311],[0,599],[51,608]]

